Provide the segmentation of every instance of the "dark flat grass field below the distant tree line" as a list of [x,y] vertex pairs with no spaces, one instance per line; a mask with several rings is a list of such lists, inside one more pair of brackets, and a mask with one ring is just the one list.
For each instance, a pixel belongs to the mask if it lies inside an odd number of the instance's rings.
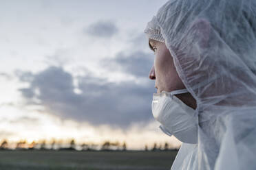
[[1,170],[170,169],[177,151],[0,151]]

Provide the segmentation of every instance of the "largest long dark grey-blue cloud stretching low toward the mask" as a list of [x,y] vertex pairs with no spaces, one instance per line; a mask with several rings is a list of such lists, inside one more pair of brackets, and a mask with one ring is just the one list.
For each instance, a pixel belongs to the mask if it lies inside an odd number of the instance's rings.
[[[21,80],[26,80],[23,76],[20,75]],[[134,82],[115,84],[89,75],[76,78],[81,94],[74,93],[74,77],[70,73],[51,66],[34,74],[30,87],[20,91],[28,103],[36,98],[45,111],[63,119],[119,127],[152,119],[153,82],[146,85]]]

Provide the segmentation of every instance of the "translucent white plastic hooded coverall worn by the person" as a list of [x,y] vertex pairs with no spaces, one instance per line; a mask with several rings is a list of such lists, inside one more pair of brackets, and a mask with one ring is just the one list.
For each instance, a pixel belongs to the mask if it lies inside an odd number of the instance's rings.
[[197,101],[198,144],[183,143],[172,169],[256,169],[256,1],[168,1],[145,33]]

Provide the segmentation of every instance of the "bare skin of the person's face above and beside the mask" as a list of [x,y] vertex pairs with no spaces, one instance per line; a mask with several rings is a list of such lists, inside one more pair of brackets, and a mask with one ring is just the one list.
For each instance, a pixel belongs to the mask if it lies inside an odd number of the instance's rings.
[[[161,93],[163,90],[171,92],[186,88],[176,71],[173,58],[165,43],[150,40],[149,47],[155,53],[155,60],[149,72],[149,79],[156,81],[155,87],[158,89],[157,93]],[[196,108],[196,101],[190,93],[176,95],[176,97],[182,100],[187,106]]]

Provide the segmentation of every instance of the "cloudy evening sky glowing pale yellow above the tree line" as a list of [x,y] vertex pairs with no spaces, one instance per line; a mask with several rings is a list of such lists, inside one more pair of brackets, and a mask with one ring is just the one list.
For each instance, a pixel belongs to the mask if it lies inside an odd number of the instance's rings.
[[143,33],[166,1],[1,1],[0,140],[178,147],[151,113]]

